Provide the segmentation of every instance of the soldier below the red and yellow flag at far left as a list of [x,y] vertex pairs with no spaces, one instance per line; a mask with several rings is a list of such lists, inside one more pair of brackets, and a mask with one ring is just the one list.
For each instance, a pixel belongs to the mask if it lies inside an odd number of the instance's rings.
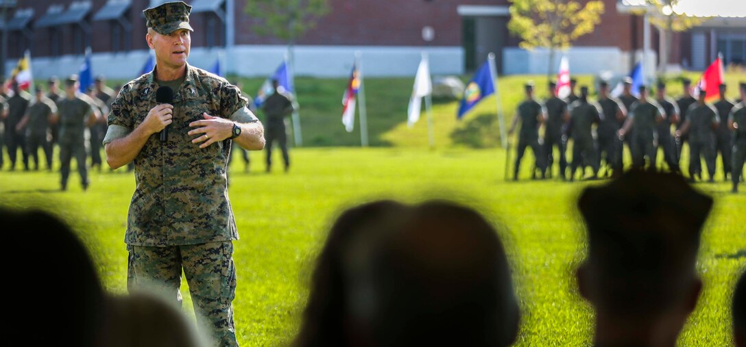
[[16,131],[23,115],[26,114],[28,104],[31,103],[31,95],[24,92],[18,87],[18,83],[13,81],[13,96],[7,99],[8,114],[5,118],[5,145],[7,146],[7,156],[10,158],[10,171],[16,169],[16,157],[18,150],[21,150],[23,156],[23,168],[28,171],[28,152],[26,151],[26,139],[23,133]]

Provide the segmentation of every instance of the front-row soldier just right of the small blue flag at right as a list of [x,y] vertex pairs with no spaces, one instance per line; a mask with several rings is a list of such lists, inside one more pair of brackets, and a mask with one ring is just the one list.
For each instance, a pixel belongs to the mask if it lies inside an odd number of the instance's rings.
[[630,106],[630,114],[627,122],[619,130],[619,137],[624,138],[627,133],[632,132],[630,150],[632,150],[633,168],[645,168],[645,158],[648,158],[648,168],[655,170],[658,154],[657,124],[663,120],[663,111],[654,100],[648,100],[648,87],[639,87],[640,98]]

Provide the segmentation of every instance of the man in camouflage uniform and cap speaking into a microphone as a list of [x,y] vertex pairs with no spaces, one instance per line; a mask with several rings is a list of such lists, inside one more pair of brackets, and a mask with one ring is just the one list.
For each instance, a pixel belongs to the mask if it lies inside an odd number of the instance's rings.
[[[104,147],[111,168],[135,162],[125,233],[128,289],[181,302],[183,270],[200,327],[220,346],[237,346],[231,302],[238,233],[226,170],[233,142],[263,148],[263,127],[239,89],[186,63],[191,8],[178,1],[143,11],[156,66],[122,87]],[[163,86],[174,90],[171,104],[156,101]],[[166,141],[160,141],[169,124]]]

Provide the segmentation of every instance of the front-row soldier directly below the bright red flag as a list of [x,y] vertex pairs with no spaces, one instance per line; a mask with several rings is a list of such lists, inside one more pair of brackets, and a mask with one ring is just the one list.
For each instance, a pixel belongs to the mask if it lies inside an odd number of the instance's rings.
[[699,99],[686,111],[686,121],[676,137],[689,133],[689,180],[701,179],[702,158],[707,165],[709,182],[715,182],[715,130],[720,125],[718,112],[704,100],[706,91],[700,91]]

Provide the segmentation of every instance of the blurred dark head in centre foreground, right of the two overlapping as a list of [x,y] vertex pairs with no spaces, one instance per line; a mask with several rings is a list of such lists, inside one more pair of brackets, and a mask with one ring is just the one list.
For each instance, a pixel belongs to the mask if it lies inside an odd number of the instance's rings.
[[496,230],[446,201],[413,207],[372,267],[374,346],[509,346],[519,311]]

